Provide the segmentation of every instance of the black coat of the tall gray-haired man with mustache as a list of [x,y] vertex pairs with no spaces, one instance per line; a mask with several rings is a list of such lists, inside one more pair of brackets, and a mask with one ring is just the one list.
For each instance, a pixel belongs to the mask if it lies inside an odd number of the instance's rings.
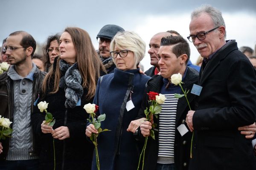
[[[203,69],[203,70],[202,70]],[[256,119],[256,73],[231,40],[199,73],[190,170],[255,170],[251,139],[238,127]]]

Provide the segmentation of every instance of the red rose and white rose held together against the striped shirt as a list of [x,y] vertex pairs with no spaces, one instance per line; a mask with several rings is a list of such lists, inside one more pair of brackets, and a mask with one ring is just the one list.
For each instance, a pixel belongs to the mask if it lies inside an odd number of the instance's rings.
[[[152,129],[150,130],[150,136],[155,139],[154,136],[154,128],[157,127],[157,124],[153,122],[153,116],[155,116],[156,118],[158,118],[158,114],[161,112],[162,110],[162,106],[160,104],[163,104],[166,100],[166,97],[163,94],[158,94],[155,92],[150,91],[148,94],[148,104],[150,105],[149,108],[146,108],[144,110],[144,113],[146,115],[146,119],[145,121],[150,121],[152,123]],[[138,168],[137,170],[139,170],[140,168],[140,161],[141,161],[141,157],[143,155],[143,161],[142,161],[142,170],[144,168],[144,158],[145,158],[145,150],[147,147],[147,142],[148,142],[148,136],[145,137],[145,142],[144,142],[144,146],[143,149],[140,153],[140,159],[139,159],[139,164],[138,164]]]

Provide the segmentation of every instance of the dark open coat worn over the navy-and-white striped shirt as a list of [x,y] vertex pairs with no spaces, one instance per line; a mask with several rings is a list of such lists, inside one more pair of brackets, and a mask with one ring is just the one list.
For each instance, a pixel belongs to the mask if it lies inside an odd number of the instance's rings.
[[[189,89],[191,91],[193,84],[197,84],[198,82],[198,72],[193,68],[188,68],[186,76],[183,80],[184,84],[183,89]],[[163,86],[163,77],[160,75],[155,75],[148,81],[148,86],[145,91],[148,93],[149,91],[154,91],[160,93],[160,90]],[[142,106],[139,112],[138,118],[145,117],[144,110],[145,108],[149,108],[148,105],[148,95],[144,93]],[[190,106],[194,105],[194,94],[187,95]],[[174,146],[174,157],[175,157],[175,168],[177,170],[187,170],[189,163],[189,153],[190,153],[190,144],[192,133],[189,131],[185,135],[181,136],[177,130],[177,127],[181,124],[185,123],[186,114],[189,111],[189,106],[186,102],[186,98],[182,97],[178,99],[177,103],[177,112],[176,112],[176,120],[175,120],[175,146]],[[159,125],[159,119],[154,117],[154,122]],[[186,125],[186,124],[185,124]],[[158,128],[158,126],[156,127]],[[188,128],[188,127],[187,127]],[[155,140],[151,137],[148,137],[148,144],[145,152],[145,163],[144,170],[155,170],[157,166],[157,157],[158,157],[158,131],[154,132]],[[140,139],[141,140],[141,136]],[[143,140],[141,140],[143,141]]]

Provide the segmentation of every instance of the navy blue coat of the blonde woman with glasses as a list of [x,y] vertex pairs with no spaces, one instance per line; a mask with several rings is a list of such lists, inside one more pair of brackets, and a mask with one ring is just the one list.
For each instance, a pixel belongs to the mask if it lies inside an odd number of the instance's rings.
[[[137,117],[148,79],[150,77],[140,74],[139,69],[115,69],[114,73],[105,75],[101,82],[99,79],[93,103],[99,105],[98,113],[106,114],[102,129],[111,130],[100,133],[98,137],[101,170],[137,169],[140,151],[137,149],[133,133],[126,130],[130,122]],[[130,97],[135,108],[127,111],[125,106]],[[96,170],[95,152],[92,169]]]

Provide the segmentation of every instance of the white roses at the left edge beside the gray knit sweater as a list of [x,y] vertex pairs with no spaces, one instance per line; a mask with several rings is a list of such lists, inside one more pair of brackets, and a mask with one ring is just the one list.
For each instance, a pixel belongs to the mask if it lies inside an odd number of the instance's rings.
[[10,128],[12,122],[9,119],[4,118],[0,115],[0,139],[6,139],[12,133],[12,129]]

